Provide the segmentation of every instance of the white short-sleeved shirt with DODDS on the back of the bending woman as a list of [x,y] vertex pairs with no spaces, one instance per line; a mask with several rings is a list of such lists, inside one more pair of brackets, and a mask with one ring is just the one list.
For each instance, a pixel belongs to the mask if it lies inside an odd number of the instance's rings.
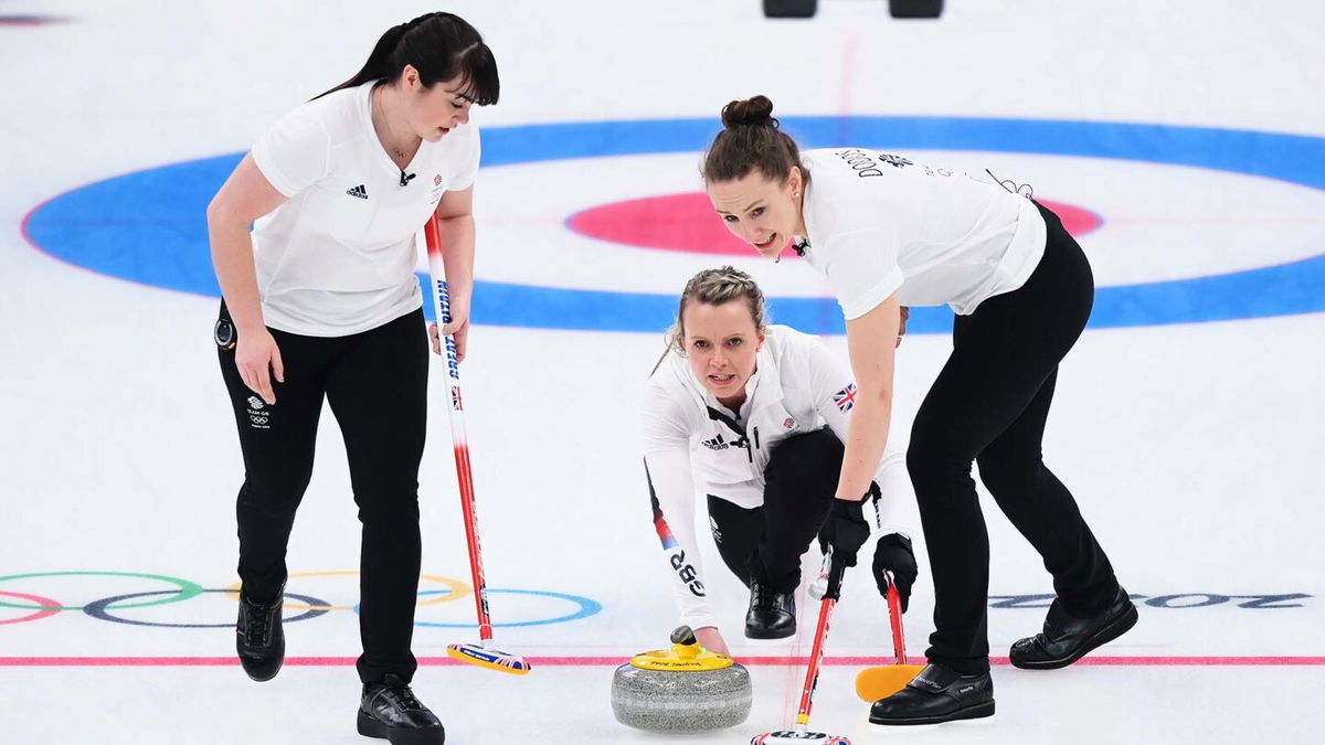
[[849,321],[897,293],[959,315],[1020,288],[1044,255],[1035,203],[1002,186],[859,147],[807,150],[806,258]]

